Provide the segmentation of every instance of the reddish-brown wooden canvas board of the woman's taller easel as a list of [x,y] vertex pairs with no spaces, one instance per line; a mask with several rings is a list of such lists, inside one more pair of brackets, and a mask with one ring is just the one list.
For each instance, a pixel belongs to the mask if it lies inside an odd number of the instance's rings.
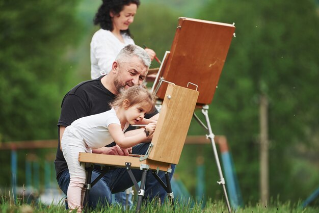
[[[179,18],[170,54],[163,60],[153,88],[161,77],[179,86],[192,82],[200,92],[197,103],[211,103],[234,31],[232,24]],[[166,88],[167,84],[159,88],[159,99],[164,99]]]

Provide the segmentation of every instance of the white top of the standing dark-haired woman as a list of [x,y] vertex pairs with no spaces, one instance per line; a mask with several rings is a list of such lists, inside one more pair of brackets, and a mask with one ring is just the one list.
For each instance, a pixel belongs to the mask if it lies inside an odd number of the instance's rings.
[[108,74],[112,69],[112,64],[120,50],[128,45],[135,44],[127,34],[122,34],[122,43],[111,31],[100,29],[92,37],[91,41],[91,78],[101,76],[100,71],[104,70]]

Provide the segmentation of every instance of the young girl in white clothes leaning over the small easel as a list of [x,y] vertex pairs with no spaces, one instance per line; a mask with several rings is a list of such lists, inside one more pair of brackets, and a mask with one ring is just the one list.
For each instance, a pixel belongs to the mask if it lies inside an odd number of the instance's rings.
[[[92,152],[112,143],[121,148],[135,146],[149,136],[156,127],[156,121],[144,119],[144,115],[154,107],[155,97],[143,86],[133,86],[123,90],[111,103],[112,109],[96,115],[82,117],[66,127],[62,141],[63,155],[70,172],[68,206],[70,210],[82,211],[82,191],[85,183],[85,168],[78,163],[79,152]],[[137,135],[126,137],[124,131],[129,124],[147,124]]]

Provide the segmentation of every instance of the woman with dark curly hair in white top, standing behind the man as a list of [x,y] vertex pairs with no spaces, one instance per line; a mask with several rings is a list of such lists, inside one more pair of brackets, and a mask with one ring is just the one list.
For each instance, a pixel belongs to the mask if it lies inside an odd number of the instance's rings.
[[[108,74],[120,50],[127,44],[134,44],[129,25],[140,5],[140,0],[103,0],[95,14],[94,24],[101,29],[91,41],[91,78]],[[152,49],[145,49],[151,58],[156,56]]]

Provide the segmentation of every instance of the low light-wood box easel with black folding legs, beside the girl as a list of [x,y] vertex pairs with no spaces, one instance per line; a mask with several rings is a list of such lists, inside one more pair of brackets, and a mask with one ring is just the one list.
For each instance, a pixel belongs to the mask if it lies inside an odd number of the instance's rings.
[[[157,121],[156,129],[149,149],[144,156],[120,156],[94,153],[79,153],[78,161],[85,163],[87,178],[85,183],[84,205],[88,201],[91,187],[111,167],[126,168],[135,188],[138,191],[137,212],[140,211],[142,198],[145,192],[146,172],[152,170],[152,174],[167,191],[173,202],[173,193],[170,184],[169,173],[171,164],[178,164],[181,150],[191,123],[199,92],[193,89],[169,84],[163,100],[163,107]],[[104,167],[101,175],[91,182],[93,164]],[[141,187],[131,172],[131,169],[143,170]],[[157,176],[158,171],[166,172],[166,184]],[[162,181],[162,182],[161,182]]]

